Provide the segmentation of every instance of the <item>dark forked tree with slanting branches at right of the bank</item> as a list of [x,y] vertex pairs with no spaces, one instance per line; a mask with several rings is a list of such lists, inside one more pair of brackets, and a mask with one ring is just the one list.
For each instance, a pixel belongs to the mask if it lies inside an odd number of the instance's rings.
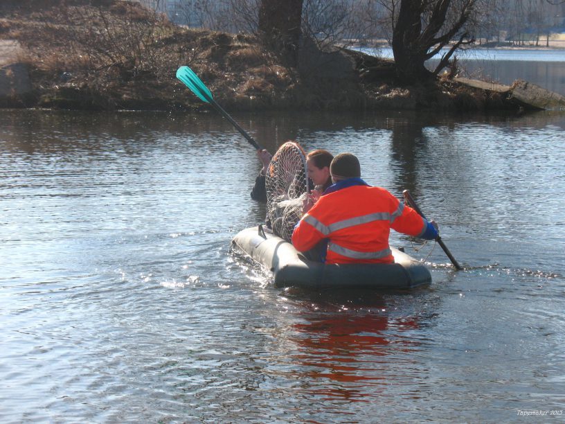
[[[466,27],[476,0],[391,0],[393,55],[403,82],[427,80],[447,67],[463,44],[474,42]],[[400,7],[397,7],[400,6]],[[449,46],[434,71],[424,63]]]

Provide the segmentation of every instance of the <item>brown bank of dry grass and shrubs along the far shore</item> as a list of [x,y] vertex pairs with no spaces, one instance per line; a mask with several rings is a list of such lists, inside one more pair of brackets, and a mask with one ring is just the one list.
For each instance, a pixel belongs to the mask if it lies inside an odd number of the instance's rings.
[[0,39],[21,46],[31,90],[4,107],[199,109],[174,73],[188,65],[231,110],[513,109],[449,79],[400,86],[393,62],[305,42],[286,66],[252,35],[183,28],[134,1],[5,0]]

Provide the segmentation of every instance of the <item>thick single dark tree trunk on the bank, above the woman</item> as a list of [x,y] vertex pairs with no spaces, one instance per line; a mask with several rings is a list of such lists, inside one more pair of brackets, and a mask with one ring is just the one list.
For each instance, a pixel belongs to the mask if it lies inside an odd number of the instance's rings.
[[261,0],[259,8],[258,30],[263,41],[293,64],[301,37],[303,1]]

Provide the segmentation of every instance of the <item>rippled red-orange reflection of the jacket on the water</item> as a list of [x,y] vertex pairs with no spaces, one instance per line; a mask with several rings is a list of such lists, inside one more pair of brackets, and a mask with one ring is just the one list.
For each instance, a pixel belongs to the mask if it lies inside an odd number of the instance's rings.
[[358,315],[341,311],[322,313],[292,327],[295,333],[289,340],[298,346],[298,353],[292,359],[308,369],[300,373],[302,377],[353,383],[325,384],[324,388],[316,389],[316,395],[368,402],[363,387],[389,382],[390,376],[384,376],[382,370],[388,360],[395,358],[387,355],[409,351],[415,346],[415,342],[399,333],[418,328],[418,322],[412,317],[391,320],[375,313]]

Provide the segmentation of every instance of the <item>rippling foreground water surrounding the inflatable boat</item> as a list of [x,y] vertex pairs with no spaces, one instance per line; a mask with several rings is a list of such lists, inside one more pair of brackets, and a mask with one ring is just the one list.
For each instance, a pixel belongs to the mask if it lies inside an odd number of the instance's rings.
[[[273,288],[264,216],[213,114],[2,111],[0,420],[522,422],[565,403],[565,116],[257,114],[273,151],[359,155],[440,247],[414,292]],[[549,414],[549,412],[548,412]]]

